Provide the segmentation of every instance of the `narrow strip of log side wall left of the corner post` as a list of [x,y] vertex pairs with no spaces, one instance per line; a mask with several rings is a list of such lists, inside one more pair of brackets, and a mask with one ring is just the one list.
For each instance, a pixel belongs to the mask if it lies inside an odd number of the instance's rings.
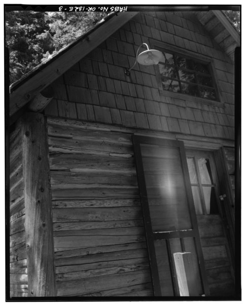
[[10,296],[28,296],[21,130],[10,134]]

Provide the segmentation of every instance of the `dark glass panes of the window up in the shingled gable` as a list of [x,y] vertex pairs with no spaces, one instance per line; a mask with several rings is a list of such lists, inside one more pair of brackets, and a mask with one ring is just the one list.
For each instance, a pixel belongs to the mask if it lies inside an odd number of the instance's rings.
[[162,53],[159,73],[163,90],[217,100],[210,64],[177,53]]

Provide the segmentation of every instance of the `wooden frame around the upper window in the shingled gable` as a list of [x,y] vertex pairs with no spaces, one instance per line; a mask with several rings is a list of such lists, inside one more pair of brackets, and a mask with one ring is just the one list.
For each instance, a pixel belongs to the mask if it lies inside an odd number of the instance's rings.
[[212,57],[202,55],[202,54],[199,54],[199,53],[196,53],[196,52],[193,52],[193,51],[188,51],[186,49],[176,47],[176,46],[173,46],[173,45],[170,45],[170,44],[166,44],[166,43],[163,43],[163,42],[158,42],[154,39],[149,39],[149,43],[150,43],[150,46],[152,46],[153,48],[155,48],[157,50],[168,51],[168,52],[175,53],[175,54],[178,54],[180,56],[183,56],[185,58],[188,57],[189,59],[193,59],[193,60],[195,59],[196,61],[202,62],[203,64],[208,64],[208,66],[210,68],[210,74],[211,74],[211,77],[212,77],[214,89],[216,91],[216,98],[217,99],[212,100],[212,99],[202,98],[202,97],[193,96],[193,95],[189,95],[189,94],[185,94],[185,93],[171,92],[171,91],[163,90],[162,83],[161,83],[161,75],[160,75],[160,72],[159,72],[159,66],[154,65],[160,95],[165,96],[165,97],[172,97],[172,98],[178,98],[178,99],[183,99],[183,100],[189,100],[190,102],[216,106],[216,107],[219,107],[219,108],[224,107],[224,103],[222,102],[222,98],[221,98],[221,91],[219,89],[219,83],[218,83],[218,80],[217,80],[217,75],[216,75],[215,69],[214,69],[214,60],[213,60]]

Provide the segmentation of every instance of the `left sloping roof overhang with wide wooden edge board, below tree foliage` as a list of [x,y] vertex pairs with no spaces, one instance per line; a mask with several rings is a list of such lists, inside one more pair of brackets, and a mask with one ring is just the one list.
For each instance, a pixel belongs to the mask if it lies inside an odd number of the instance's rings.
[[15,82],[10,87],[10,117],[17,114],[37,94],[98,47],[137,13],[121,12],[110,14],[103,22],[97,24],[81,38]]

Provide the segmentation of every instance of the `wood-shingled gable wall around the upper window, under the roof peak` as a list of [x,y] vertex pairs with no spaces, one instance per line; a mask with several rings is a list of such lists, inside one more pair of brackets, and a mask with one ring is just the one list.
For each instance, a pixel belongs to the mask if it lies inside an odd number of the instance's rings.
[[[136,64],[128,81],[124,69],[143,42],[154,47],[149,39],[212,59],[220,102],[161,95],[154,66]],[[53,83],[55,96],[45,114],[233,140],[233,73],[230,59],[193,13],[138,13]]]

